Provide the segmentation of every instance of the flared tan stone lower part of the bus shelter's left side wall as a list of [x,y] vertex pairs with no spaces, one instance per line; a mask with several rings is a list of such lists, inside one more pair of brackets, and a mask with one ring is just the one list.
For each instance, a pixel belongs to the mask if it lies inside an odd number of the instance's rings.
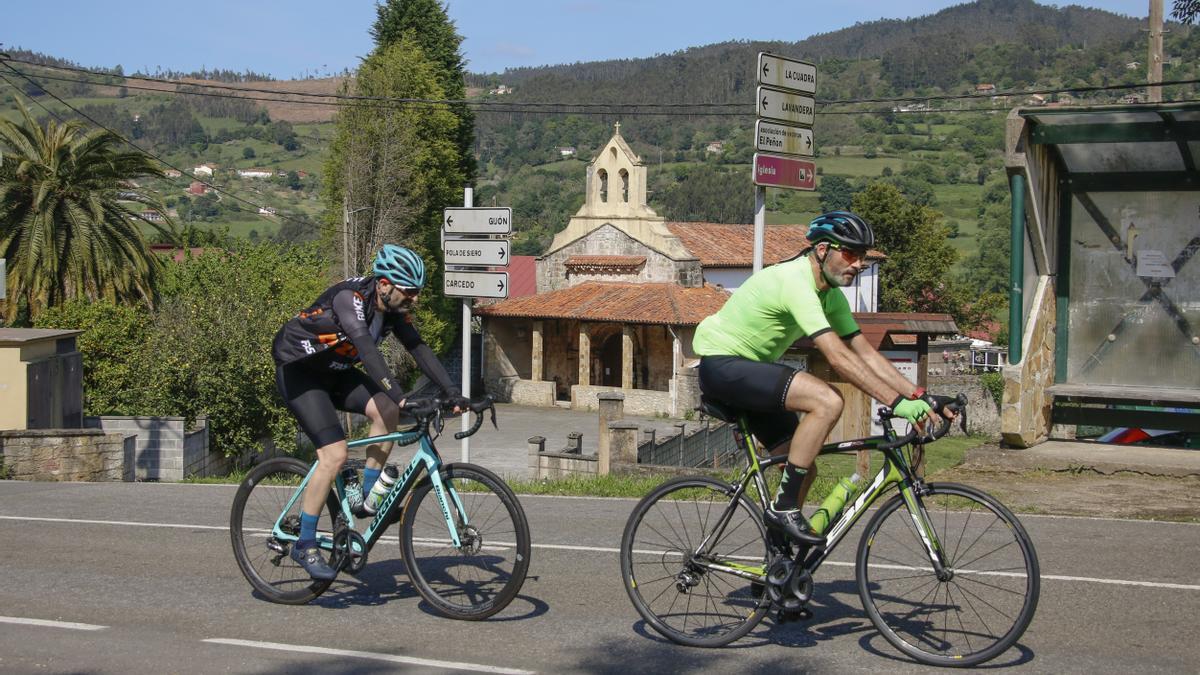
[[1038,280],[1021,344],[1021,362],[1004,366],[1001,440],[1028,448],[1050,434],[1050,386],[1055,371],[1055,297],[1050,276]]

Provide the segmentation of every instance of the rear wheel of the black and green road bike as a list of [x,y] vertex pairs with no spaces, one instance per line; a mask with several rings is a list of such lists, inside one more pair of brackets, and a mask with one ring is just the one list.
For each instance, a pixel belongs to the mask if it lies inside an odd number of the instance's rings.
[[[701,565],[715,558],[766,573],[770,552],[762,510],[745,495],[734,506],[732,490],[714,478],[673,478],[643,497],[625,524],[620,538],[625,592],[642,619],[673,643],[727,645],[754,629],[770,607],[761,578],[755,592],[755,581]],[[726,527],[712,542],[710,554],[698,561],[696,550],[731,506]]]

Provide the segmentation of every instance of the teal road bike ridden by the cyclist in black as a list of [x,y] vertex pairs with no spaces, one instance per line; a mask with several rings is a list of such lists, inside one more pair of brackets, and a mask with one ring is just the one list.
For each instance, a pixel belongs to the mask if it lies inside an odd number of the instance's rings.
[[[404,567],[433,611],[481,620],[504,609],[524,584],[529,525],[521,502],[498,476],[472,464],[442,462],[433,441],[451,407],[437,399],[409,402],[402,413],[415,420],[412,428],[349,443],[419,447],[361,532],[340,474],[317,524],[318,544],[331,567],[358,574],[384,531],[398,522]],[[475,422],[455,438],[478,431],[485,412],[496,424],[491,398],[469,407]],[[310,466],[295,458],[266,460],[250,471],[234,497],[229,516],[234,557],[268,601],[304,604],[332,584],[310,578],[288,555],[300,533],[300,496],[316,467],[317,462]]]

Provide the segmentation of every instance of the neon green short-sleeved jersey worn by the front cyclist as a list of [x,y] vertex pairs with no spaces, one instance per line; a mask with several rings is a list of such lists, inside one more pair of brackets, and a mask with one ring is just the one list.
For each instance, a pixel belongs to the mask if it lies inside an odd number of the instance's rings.
[[720,311],[700,322],[692,348],[702,357],[775,362],[800,338],[827,330],[842,338],[859,331],[846,295],[838,288],[818,291],[803,256],[751,275]]

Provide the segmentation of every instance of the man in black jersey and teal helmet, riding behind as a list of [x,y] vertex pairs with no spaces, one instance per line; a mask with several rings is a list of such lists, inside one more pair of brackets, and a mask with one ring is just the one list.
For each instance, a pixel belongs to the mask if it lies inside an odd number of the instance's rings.
[[[308,309],[299,312],[275,335],[275,381],[288,408],[317,446],[319,465],[301,502],[300,537],[292,557],[314,579],[332,579],[317,546],[317,518],[337,472],[346,464],[346,431],[337,411],[365,414],[371,435],[395,431],[404,392],[392,378],[379,342],[396,335],[418,368],[444,396],[466,410],[466,399],[433,350],[413,325],[412,309],[425,285],[425,262],[402,246],[386,244],[376,256],[374,274],[347,279],[328,288]],[[354,368],[361,363],[362,369]],[[391,443],[367,447],[362,492],[349,495],[356,510],[379,478]],[[361,512],[360,512],[361,513]]]

